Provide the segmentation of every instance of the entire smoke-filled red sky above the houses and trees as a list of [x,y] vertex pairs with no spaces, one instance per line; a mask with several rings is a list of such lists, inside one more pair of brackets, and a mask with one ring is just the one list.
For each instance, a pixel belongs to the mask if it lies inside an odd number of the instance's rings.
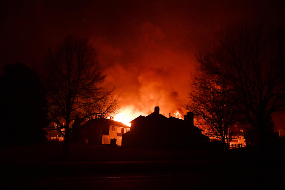
[[[1,4],[1,62],[40,72],[42,57],[69,34],[89,37],[134,119],[165,116],[188,102],[195,55],[226,25],[284,25],[282,1],[23,1]],[[173,116],[173,115],[172,115]]]

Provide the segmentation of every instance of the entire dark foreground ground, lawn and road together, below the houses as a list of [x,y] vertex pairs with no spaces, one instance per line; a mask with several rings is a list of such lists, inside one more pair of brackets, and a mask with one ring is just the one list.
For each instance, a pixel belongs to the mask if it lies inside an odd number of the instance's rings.
[[284,147],[144,150],[61,143],[1,149],[1,189],[284,189]]

